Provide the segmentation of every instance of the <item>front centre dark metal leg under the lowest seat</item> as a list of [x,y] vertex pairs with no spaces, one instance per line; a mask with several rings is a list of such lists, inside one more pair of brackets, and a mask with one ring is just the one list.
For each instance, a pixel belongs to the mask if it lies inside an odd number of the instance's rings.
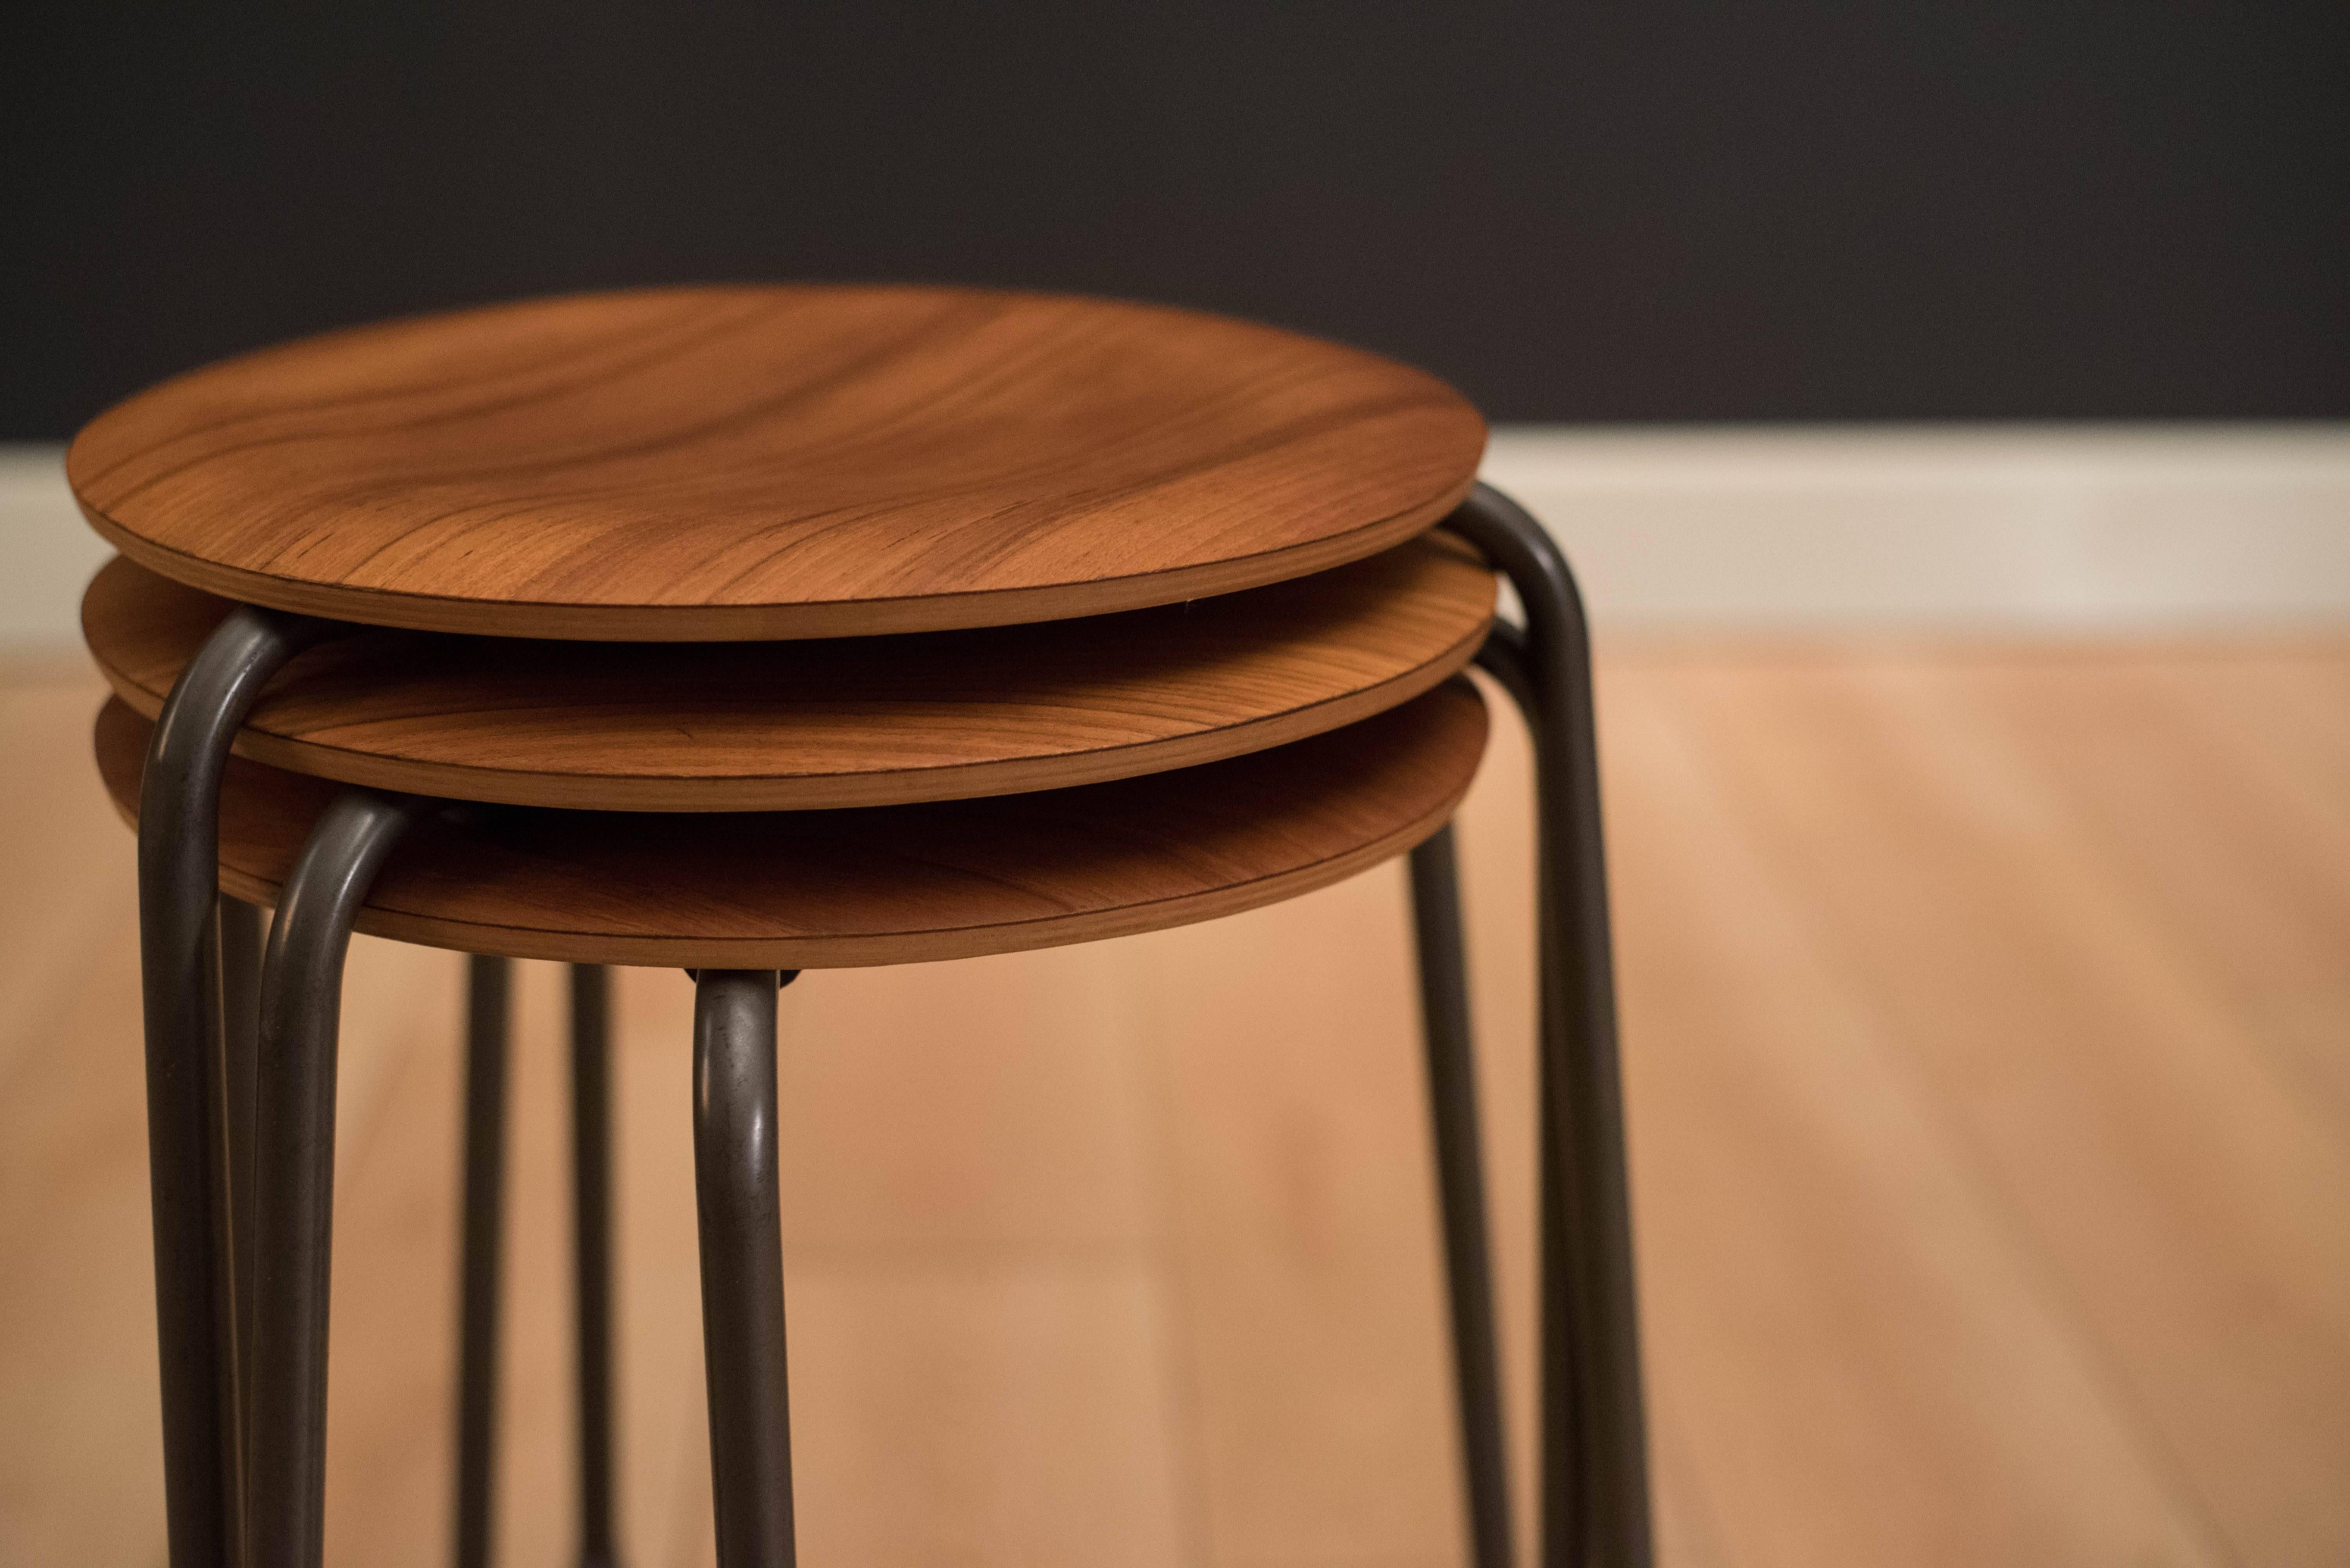
[[787,1568],[792,1425],[783,1366],[773,969],[693,984],[693,1188],[719,1568]]

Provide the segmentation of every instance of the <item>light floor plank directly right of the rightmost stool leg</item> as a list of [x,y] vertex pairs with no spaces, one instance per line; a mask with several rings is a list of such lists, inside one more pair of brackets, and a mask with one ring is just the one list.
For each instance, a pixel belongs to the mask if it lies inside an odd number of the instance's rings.
[[1687,685],[1610,681],[1607,782],[1647,1361],[1720,1540],[1751,1568],[2223,1561],[1737,819]]

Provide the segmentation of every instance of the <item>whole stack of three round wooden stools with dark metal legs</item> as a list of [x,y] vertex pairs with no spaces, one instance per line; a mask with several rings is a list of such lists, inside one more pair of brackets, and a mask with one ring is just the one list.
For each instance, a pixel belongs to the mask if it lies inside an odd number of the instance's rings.
[[1504,1568],[1448,829],[1471,662],[1539,775],[1539,1561],[1647,1563],[1589,646],[1483,434],[1429,376],[1264,326],[851,286],[421,317],[94,420],[68,477],[122,552],[82,624],[139,831],[174,1568],[322,1561],[352,930],[472,955],[458,1561],[489,1540],[505,960],[545,958],[576,965],[580,1559],[616,1559],[602,965],[674,965],[719,1561],[790,1563],[776,988],[1403,852],[1471,1549]]

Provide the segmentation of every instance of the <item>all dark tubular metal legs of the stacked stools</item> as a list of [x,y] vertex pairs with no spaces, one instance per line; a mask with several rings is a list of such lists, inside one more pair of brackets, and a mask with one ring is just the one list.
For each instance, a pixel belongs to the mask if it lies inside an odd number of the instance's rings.
[[[1478,667],[1509,690],[1537,775],[1539,1498],[1544,1568],[1647,1568],[1638,1310],[1600,840],[1591,646],[1565,556],[1478,484],[1443,523],[1511,582]],[[348,789],[280,894],[219,894],[228,751],[268,678],[338,622],[240,606],[181,671],[139,810],[148,1150],[174,1568],[322,1561],[334,1059],[367,887],[439,800]],[[1466,955],[1450,826],[1410,852],[1412,930],[1476,1568],[1513,1556]],[[489,1561],[508,962],[468,967],[456,1559]],[[696,1190],[719,1561],[792,1563],[776,986],[696,976]],[[258,986],[254,984],[258,979]],[[613,1563],[609,979],[573,965],[580,1563]]]

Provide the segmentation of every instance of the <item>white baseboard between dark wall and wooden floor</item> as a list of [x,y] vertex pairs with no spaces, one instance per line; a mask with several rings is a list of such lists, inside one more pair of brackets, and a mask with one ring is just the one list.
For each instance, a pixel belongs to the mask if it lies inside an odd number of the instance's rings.
[[[1603,631],[2350,627],[2350,423],[1504,425],[1485,477]],[[70,648],[63,448],[0,446],[0,648]]]

